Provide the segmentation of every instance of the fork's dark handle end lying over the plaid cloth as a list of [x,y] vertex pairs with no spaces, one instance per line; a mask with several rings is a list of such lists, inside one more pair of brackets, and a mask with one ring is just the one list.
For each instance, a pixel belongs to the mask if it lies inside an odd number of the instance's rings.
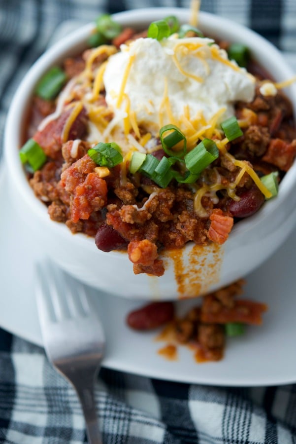
[[102,444],[93,381],[88,384],[84,382],[83,386],[79,385],[77,387],[76,385],[75,388],[84,414],[88,442],[90,444]]

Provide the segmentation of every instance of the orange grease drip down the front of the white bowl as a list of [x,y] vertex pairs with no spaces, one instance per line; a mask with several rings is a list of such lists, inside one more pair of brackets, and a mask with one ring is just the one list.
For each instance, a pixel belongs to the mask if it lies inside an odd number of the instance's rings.
[[217,244],[168,250],[180,298],[204,295],[220,280],[223,248]]

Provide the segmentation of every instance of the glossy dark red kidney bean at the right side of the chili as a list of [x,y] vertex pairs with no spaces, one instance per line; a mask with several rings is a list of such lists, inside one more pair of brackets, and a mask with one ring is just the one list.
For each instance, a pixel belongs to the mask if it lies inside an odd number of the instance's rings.
[[239,201],[231,200],[229,211],[235,218],[247,218],[256,213],[264,203],[264,196],[257,186],[238,194]]

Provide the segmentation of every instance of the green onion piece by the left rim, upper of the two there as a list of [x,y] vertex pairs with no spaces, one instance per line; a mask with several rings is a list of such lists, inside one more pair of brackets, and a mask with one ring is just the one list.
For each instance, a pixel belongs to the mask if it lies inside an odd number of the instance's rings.
[[67,76],[58,66],[53,66],[38,82],[35,93],[45,100],[54,99],[66,83]]

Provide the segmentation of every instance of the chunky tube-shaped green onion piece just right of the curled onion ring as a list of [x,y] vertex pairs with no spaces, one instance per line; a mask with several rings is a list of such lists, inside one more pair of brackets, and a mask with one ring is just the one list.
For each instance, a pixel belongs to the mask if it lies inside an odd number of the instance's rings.
[[188,170],[199,175],[210,163],[219,157],[217,145],[211,139],[203,139],[197,147],[189,151],[185,159]]

